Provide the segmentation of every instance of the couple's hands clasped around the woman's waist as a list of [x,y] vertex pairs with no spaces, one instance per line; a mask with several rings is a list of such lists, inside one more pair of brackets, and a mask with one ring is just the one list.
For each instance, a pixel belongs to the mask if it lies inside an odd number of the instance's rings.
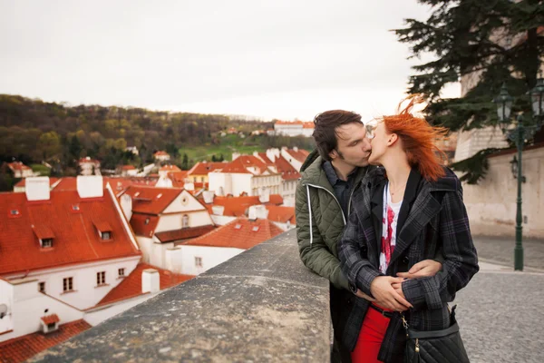
[[366,295],[360,289],[355,293],[359,298],[375,302],[384,309],[393,311],[405,311],[413,308],[403,293],[403,281],[410,279],[424,278],[434,276],[442,269],[442,263],[435,260],[423,260],[413,265],[408,272],[399,272],[397,277],[378,276],[370,284],[370,292],[374,298]]

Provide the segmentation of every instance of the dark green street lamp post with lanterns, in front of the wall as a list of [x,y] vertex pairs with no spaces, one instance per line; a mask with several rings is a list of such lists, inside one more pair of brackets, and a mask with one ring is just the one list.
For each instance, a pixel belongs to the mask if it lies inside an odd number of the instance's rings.
[[[506,84],[502,84],[500,87],[500,94],[493,102],[497,104],[497,116],[499,116],[499,122],[502,132],[507,133],[510,141],[515,142],[518,148],[518,158],[514,156],[514,160],[511,162],[512,173],[514,178],[518,180],[518,199],[517,199],[517,211],[516,211],[516,247],[514,248],[514,270],[523,270],[523,245],[522,245],[522,231],[521,225],[521,183],[525,182],[525,177],[522,174],[521,154],[523,152],[523,144],[525,140],[530,139],[535,132],[540,130],[542,125],[540,117],[544,114],[544,80],[539,78],[536,86],[530,90],[530,99],[532,104],[533,117],[537,123],[535,126],[526,126],[523,124],[523,114],[519,113],[516,118],[515,127],[511,130],[507,130],[510,124],[510,113],[512,110],[513,98],[506,89]],[[517,174],[517,177],[516,177]]]

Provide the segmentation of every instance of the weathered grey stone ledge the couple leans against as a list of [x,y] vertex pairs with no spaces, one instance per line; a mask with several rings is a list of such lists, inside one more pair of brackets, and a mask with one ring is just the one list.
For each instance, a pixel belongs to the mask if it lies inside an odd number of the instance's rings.
[[32,361],[328,362],[328,304],[287,231]]

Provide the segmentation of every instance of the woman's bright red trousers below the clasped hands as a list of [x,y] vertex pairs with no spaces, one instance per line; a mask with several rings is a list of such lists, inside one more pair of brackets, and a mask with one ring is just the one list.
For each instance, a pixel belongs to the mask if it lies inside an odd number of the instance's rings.
[[[384,310],[390,311],[388,309]],[[384,315],[375,309],[368,308],[359,338],[357,339],[357,345],[352,352],[352,363],[381,362],[381,360],[378,360],[378,353],[388,326],[389,318],[385,318]]]

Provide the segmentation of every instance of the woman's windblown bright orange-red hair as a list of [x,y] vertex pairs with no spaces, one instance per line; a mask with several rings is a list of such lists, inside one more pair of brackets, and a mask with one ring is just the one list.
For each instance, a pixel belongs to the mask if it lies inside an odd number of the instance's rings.
[[396,133],[402,140],[410,166],[418,168],[427,181],[436,182],[445,175],[442,164],[446,154],[434,142],[445,136],[448,129],[433,127],[425,119],[413,116],[413,106],[424,101],[419,96],[408,99],[410,103],[403,111],[393,116],[384,116],[385,129],[387,132]]

